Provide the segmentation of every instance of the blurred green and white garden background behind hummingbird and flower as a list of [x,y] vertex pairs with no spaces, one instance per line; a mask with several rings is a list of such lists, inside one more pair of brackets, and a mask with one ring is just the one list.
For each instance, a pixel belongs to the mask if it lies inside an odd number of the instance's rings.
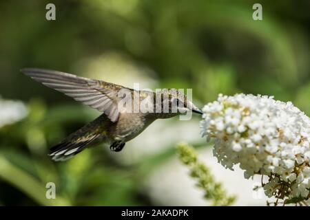
[[[56,5],[56,21],[45,5]],[[262,21],[254,21],[254,3]],[[176,144],[195,146],[235,205],[265,205],[259,179],[225,170],[198,122],[158,120],[120,153],[90,148],[55,163],[48,149],[99,115],[23,76],[41,67],[142,88],[264,94],[310,115],[310,1],[0,1],[0,206],[208,206]],[[45,185],[56,184],[56,199]],[[263,194],[263,192],[262,192]]]

